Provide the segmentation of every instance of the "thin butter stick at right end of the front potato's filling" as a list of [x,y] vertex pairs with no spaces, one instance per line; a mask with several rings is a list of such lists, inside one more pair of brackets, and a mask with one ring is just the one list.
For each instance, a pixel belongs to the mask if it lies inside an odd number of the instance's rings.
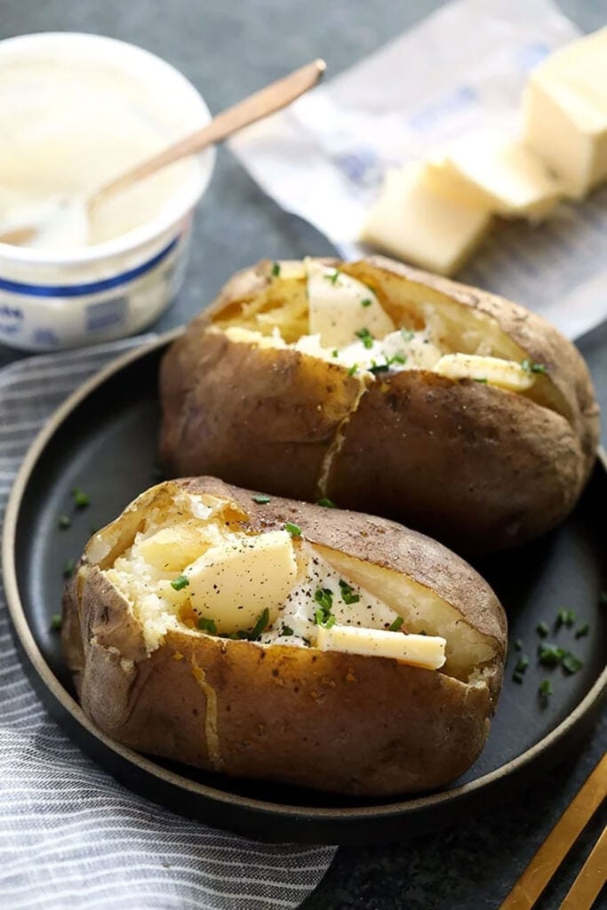
[[438,670],[445,662],[447,642],[439,635],[407,635],[359,626],[319,626],[316,646],[320,651],[339,651],[369,657],[392,657],[426,670]]

